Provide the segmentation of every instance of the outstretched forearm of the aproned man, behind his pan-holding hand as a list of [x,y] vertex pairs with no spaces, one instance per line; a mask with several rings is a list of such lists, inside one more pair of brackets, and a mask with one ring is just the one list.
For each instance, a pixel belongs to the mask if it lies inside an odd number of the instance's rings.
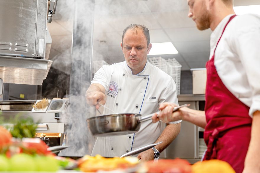
[[205,111],[197,111],[189,108],[181,108],[183,113],[182,120],[189,121],[199,127],[205,128],[207,125]]

